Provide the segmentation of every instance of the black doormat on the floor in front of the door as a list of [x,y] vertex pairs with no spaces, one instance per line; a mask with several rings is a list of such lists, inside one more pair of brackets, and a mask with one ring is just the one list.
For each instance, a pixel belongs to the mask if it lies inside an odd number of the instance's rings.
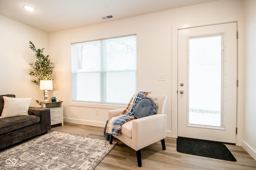
[[178,137],[177,151],[186,154],[236,162],[236,158],[232,155],[230,150],[220,142]]

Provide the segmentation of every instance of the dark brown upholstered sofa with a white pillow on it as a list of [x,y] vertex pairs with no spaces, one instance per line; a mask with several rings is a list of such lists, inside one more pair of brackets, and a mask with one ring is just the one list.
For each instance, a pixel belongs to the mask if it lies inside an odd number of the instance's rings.
[[[0,116],[4,108],[3,96],[0,95]],[[24,141],[51,129],[50,109],[29,107],[28,115],[0,119],[0,149]]]

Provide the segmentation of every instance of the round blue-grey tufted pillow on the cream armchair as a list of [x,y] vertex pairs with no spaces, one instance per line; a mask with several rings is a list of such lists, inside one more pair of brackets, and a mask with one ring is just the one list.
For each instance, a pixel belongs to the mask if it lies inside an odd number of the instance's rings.
[[156,113],[156,104],[154,100],[148,97],[144,97],[138,100],[138,102],[134,107],[134,115],[137,119],[154,115],[155,113]]

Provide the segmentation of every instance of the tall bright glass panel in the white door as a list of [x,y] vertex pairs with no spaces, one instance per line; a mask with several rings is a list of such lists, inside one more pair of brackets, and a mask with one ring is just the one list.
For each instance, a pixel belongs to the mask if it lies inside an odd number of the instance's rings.
[[222,35],[188,39],[188,125],[222,127]]

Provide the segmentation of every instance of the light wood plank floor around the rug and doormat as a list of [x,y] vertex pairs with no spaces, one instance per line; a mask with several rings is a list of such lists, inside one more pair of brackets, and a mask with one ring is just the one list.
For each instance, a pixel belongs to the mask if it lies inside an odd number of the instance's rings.
[[[51,130],[105,139],[102,127],[64,123],[64,126],[52,126]],[[114,141],[118,144],[95,170],[256,170],[256,160],[242,147],[226,145],[237,160],[231,162],[177,152],[176,138],[171,137],[165,139],[166,150],[162,150],[160,141],[142,149],[139,168],[136,152],[118,139]]]

